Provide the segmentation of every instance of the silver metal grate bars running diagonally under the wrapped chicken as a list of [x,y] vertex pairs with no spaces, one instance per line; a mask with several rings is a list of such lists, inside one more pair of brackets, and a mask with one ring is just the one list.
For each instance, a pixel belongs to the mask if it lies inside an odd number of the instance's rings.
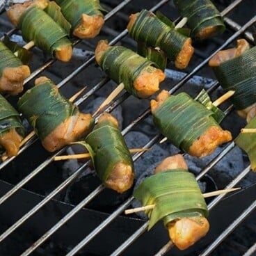
[[[230,4],[230,6],[228,6],[227,8],[225,8],[225,10],[223,10],[222,15],[227,15],[234,8],[239,8],[239,4],[242,1],[243,0],[233,1]],[[111,17],[113,17],[113,15],[116,15],[116,13],[118,13],[118,11],[122,10],[122,8],[125,8],[125,6],[128,6],[128,4],[130,2],[131,2],[131,0],[122,1],[120,4],[118,4],[118,6],[113,8],[113,10],[111,10],[105,16],[104,19],[105,20],[110,19]],[[152,11],[158,10],[159,8],[165,6],[168,2],[169,2],[168,0],[160,1],[159,3],[157,3],[157,5],[153,6],[151,8],[151,10]],[[230,43],[232,41],[234,41],[236,38],[238,38],[239,36],[243,36],[247,40],[253,41],[252,35],[247,30],[253,23],[256,22],[256,17],[252,17],[243,26],[240,26],[239,24],[234,22],[229,17],[225,17],[224,20],[225,20],[225,23],[227,24],[227,26],[230,29],[232,29],[234,31],[234,33],[220,47],[218,47],[218,49],[214,50],[214,53],[212,53],[210,56],[205,58],[199,65],[197,65],[193,70],[191,70],[191,72],[189,72],[189,74],[186,74],[182,79],[180,79],[180,81],[178,81],[178,83],[176,83],[175,86],[173,86],[169,90],[170,93],[175,93],[179,88],[182,88],[182,86],[184,86],[184,84],[187,81],[189,81],[189,79],[191,79],[195,74],[197,74],[198,71],[200,71],[202,69],[202,67],[204,67],[208,63],[211,56],[216,54],[217,51],[219,51],[221,49],[225,49],[225,47],[230,45]],[[12,29],[11,31],[8,32],[8,34],[11,35],[11,34],[15,33],[15,31],[16,31],[15,29]],[[116,36],[115,38],[113,38],[113,40],[111,40],[110,45],[115,45],[117,42],[120,42],[120,40],[125,38],[126,35],[127,35],[127,30],[122,31],[121,33],[118,34],[118,36]],[[75,42],[74,45],[77,45],[78,42],[79,42],[79,40],[77,40],[77,42]],[[32,72],[31,76],[28,79],[26,79],[25,83],[28,83],[29,81],[34,79],[38,74],[42,73],[44,70],[47,70],[47,68],[50,67],[52,64],[54,64],[54,62],[55,61],[53,59],[49,59],[49,61],[47,61],[44,65],[42,65],[37,70]],[[79,67],[77,67],[73,72],[71,72],[69,75],[67,75],[67,77],[65,77],[60,83],[58,83],[58,85],[57,85],[58,88],[63,87],[67,82],[71,81],[77,74],[79,74],[81,71],[86,69],[86,67],[88,67],[89,65],[91,65],[93,63],[95,63],[95,57],[94,56],[89,58],[88,61],[84,62]],[[75,102],[75,104],[81,105],[83,102],[86,101],[86,99],[88,99],[88,97],[90,97],[91,95],[94,95],[97,92],[97,90],[99,90],[104,85],[106,85],[106,83],[108,81],[109,81],[108,78],[104,78],[101,81],[99,81],[99,83],[97,83],[93,88],[91,88],[88,91],[88,93],[86,93],[86,95],[83,95],[83,97],[79,98],[77,100],[77,102]],[[218,88],[218,83],[214,83],[211,86],[211,88],[209,88],[208,91],[212,92],[213,90],[216,90],[216,88]],[[115,100],[115,102],[113,102],[113,104],[111,104],[111,106],[109,106],[107,111],[113,111],[113,109],[115,109],[122,102],[124,102],[125,99],[127,99],[127,97],[129,97],[129,93],[124,93],[121,97],[119,97],[117,100]],[[230,113],[231,110],[232,110],[231,108],[228,108],[225,111],[225,113],[228,114],[228,113]],[[145,118],[147,118],[148,115],[150,115],[150,109],[146,109],[141,115],[138,115],[138,117],[133,122],[130,122],[129,125],[127,125],[127,127],[125,127],[125,129],[122,130],[122,134],[124,134],[124,135],[127,134],[129,131],[131,131],[131,129],[135,125],[138,124],[138,122],[141,122],[141,120],[144,120]],[[152,139],[150,139],[150,141],[148,141],[146,143],[146,145],[144,145],[144,147],[152,147],[152,145],[157,143],[160,138],[161,138],[161,135],[157,134]],[[31,138],[28,141],[28,143],[26,143],[21,148],[21,150],[19,150],[19,154],[22,154],[22,152],[26,151],[37,140],[38,140],[38,138],[36,136],[33,136],[33,138]],[[213,166],[215,166],[216,163],[221,161],[221,159],[223,159],[223,157],[225,157],[225,155],[228,154],[233,148],[234,148],[234,142],[227,144],[227,146],[209,164],[207,164],[207,166],[205,166],[205,168],[203,168],[203,170],[201,170],[201,172],[196,177],[196,179],[199,180],[202,177],[204,177],[209,172],[209,170],[211,170],[211,168]],[[11,200],[12,195],[17,193],[17,191],[19,191],[20,189],[22,189],[25,184],[27,184],[29,181],[31,181],[31,179],[33,179],[36,175],[38,175],[42,170],[47,168],[47,166],[49,166],[49,164],[53,161],[55,156],[57,156],[59,154],[62,154],[63,152],[65,152],[65,148],[63,148],[62,150],[59,150],[55,154],[52,154],[50,157],[48,157],[47,159],[42,161],[42,163],[40,163],[40,165],[37,168],[35,168],[33,171],[31,171],[31,173],[29,173],[29,175],[24,177],[24,179],[22,179],[22,181],[18,182],[15,186],[13,186],[12,189],[10,189],[7,193],[5,193],[4,195],[1,196],[0,205],[3,204],[3,202],[5,202],[6,200]],[[143,154],[143,152],[135,154],[134,157],[133,157],[134,161],[136,161],[139,157],[141,157],[142,154]],[[7,159],[3,163],[1,163],[0,164],[0,170],[3,170],[4,167],[8,166],[8,164],[11,164],[13,161],[15,161],[15,158],[16,157],[11,157],[10,159]],[[6,239],[19,226],[21,226],[23,223],[25,223],[27,220],[29,220],[29,218],[31,218],[31,216],[33,216],[36,212],[40,211],[40,209],[42,209],[42,207],[47,205],[47,203],[50,200],[52,200],[58,193],[63,191],[63,189],[67,188],[68,185],[70,185],[75,179],[77,179],[79,177],[79,175],[81,175],[82,171],[88,166],[88,164],[89,164],[89,161],[84,163],[83,166],[78,168],[72,175],[70,175],[70,177],[67,177],[67,179],[65,179],[64,182],[62,182],[53,191],[51,191],[51,193],[49,193],[42,201],[40,201],[31,210],[29,210],[26,214],[24,214],[24,216],[22,216],[22,218],[19,218],[13,225],[8,227],[8,229],[0,235],[0,241],[3,241],[4,239]],[[232,182],[230,182],[230,184],[228,184],[226,186],[226,189],[233,188],[244,177],[246,177],[246,175],[248,175],[249,172],[250,172],[250,166],[248,166],[247,168],[242,170],[241,173],[239,175],[237,175],[237,177],[235,177],[232,180]],[[59,230],[63,225],[65,225],[65,223],[67,223],[67,221],[69,221],[70,218],[72,218],[81,209],[83,209],[83,207],[88,205],[88,203],[91,200],[93,200],[97,195],[99,195],[99,193],[101,193],[103,190],[104,190],[103,185],[97,186],[97,188],[94,191],[92,191],[76,207],[74,207],[63,218],[61,218],[60,221],[58,221],[56,224],[52,225],[52,227],[45,234],[43,234],[42,237],[40,237],[40,239],[38,239],[38,241],[35,241],[35,243],[33,243],[33,245],[31,247],[29,247],[22,255],[30,255],[31,253],[33,253],[33,251],[36,248],[38,248],[38,246],[40,246],[47,239],[49,239],[49,237],[51,237],[51,235],[55,234],[55,232],[57,230]],[[212,200],[211,203],[208,205],[209,209],[214,208],[223,199],[223,197],[224,197],[224,195],[219,195],[214,200]],[[72,250],[70,250],[70,253],[68,253],[67,255],[71,256],[71,255],[74,255],[74,254],[78,253],[79,250],[81,250],[81,248],[83,248],[91,240],[93,240],[97,236],[97,234],[102,232],[102,230],[104,230],[105,227],[107,227],[112,221],[114,221],[115,218],[120,216],[120,214],[127,207],[129,207],[129,205],[131,205],[131,202],[133,200],[134,200],[133,197],[128,198],[124,203],[122,203],[122,205],[120,205],[120,207],[118,207],[118,209],[115,209],[115,211],[113,211],[112,214],[110,214],[102,223],[100,223],[95,228],[95,230],[90,232],[90,234],[88,234],[84,239],[82,239],[81,242],[79,242],[77,244],[77,246],[74,246],[74,248],[72,248]],[[224,230],[221,234],[219,234],[219,236],[212,243],[210,243],[209,246],[200,255],[204,255],[204,256],[209,255],[238,225],[240,225],[246,219],[246,217],[250,213],[252,213],[255,210],[255,207],[256,207],[256,201],[254,201],[247,209],[245,209],[243,211],[243,213],[239,216],[239,218],[234,220],[233,223],[229,227],[227,227],[226,230]],[[147,224],[148,224],[148,222],[145,222],[140,228],[138,228],[138,230],[136,230],[136,232],[134,232],[134,234],[132,234],[124,243],[122,243],[112,253],[112,255],[120,255],[129,246],[131,246],[131,243],[136,241],[136,239],[138,239],[138,237],[140,237],[141,234],[143,234],[143,232],[145,232],[147,230]],[[116,246],[118,246],[118,245],[116,245]],[[168,253],[168,250],[170,250],[170,248],[172,248],[172,247],[173,247],[173,243],[170,241],[170,242],[166,243],[166,245],[164,245],[163,248],[161,248],[156,255],[164,255],[164,254]],[[256,251],[256,246],[254,244],[251,248],[248,249],[248,251],[244,255],[253,255],[253,253],[255,253],[255,251]]]

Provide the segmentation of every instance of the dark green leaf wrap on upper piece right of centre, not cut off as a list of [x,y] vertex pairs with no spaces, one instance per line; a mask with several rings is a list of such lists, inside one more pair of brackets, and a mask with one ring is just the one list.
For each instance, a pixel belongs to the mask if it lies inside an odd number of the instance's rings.
[[141,10],[128,30],[129,35],[149,47],[159,47],[171,61],[175,61],[187,37],[176,31],[168,18],[158,16],[148,10]]

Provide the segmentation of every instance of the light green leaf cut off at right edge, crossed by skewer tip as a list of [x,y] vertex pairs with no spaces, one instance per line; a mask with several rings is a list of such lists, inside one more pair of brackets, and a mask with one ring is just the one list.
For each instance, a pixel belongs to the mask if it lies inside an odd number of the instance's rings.
[[[256,129],[256,117],[248,122],[245,129]],[[235,139],[235,143],[243,149],[250,159],[250,166],[256,170],[256,134],[255,133],[241,133]]]

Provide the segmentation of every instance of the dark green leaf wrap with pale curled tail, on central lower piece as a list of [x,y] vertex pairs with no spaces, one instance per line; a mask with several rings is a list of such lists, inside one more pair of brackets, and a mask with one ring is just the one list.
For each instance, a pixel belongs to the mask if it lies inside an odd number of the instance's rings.
[[126,163],[134,169],[131,154],[125,140],[113,122],[99,122],[93,131],[88,134],[84,145],[93,159],[95,171],[102,180],[106,182],[111,171],[119,162]]

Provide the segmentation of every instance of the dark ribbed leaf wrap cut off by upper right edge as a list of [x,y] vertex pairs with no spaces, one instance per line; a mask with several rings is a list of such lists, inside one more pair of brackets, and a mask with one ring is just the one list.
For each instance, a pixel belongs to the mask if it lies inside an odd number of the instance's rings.
[[230,97],[236,109],[246,109],[256,102],[256,47],[240,56],[213,67],[214,74],[225,92],[234,90]]

